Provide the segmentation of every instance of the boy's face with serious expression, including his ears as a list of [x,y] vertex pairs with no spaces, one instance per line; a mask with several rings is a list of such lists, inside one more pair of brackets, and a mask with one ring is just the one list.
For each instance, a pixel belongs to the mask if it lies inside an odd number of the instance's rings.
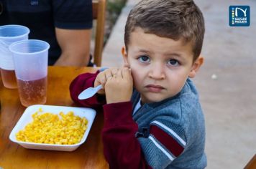
[[145,34],[140,28],[132,32],[128,50],[122,49],[124,63],[131,68],[142,102],[147,103],[177,95],[204,61],[199,57],[193,62],[191,43]]

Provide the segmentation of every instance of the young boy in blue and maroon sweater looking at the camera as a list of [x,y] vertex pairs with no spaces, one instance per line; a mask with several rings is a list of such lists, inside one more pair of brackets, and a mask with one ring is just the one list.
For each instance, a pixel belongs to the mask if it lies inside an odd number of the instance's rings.
[[[124,67],[81,74],[70,84],[75,102],[104,105],[110,168],[206,167],[204,115],[190,79],[204,62],[203,39],[204,18],[193,0],[142,0],[125,26]],[[99,84],[97,95],[78,100]]]

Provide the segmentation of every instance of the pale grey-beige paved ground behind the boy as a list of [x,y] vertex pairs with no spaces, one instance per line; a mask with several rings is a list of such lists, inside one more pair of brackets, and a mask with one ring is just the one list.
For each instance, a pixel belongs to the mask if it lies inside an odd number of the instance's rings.
[[[195,1],[206,21],[205,63],[194,82],[206,118],[207,168],[244,168],[256,153],[256,1]],[[122,64],[124,24],[136,2],[128,0],[116,22],[103,66]],[[229,26],[230,5],[250,6],[249,27]]]

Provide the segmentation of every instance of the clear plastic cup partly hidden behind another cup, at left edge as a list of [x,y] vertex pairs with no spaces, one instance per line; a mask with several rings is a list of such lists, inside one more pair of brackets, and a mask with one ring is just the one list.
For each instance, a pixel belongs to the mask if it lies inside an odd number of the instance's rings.
[[21,25],[0,26],[0,68],[1,78],[4,87],[9,89],[17,88],[17,80],[14,72],[14,62],[9,45],[13,42],[28,39],[29,29]]

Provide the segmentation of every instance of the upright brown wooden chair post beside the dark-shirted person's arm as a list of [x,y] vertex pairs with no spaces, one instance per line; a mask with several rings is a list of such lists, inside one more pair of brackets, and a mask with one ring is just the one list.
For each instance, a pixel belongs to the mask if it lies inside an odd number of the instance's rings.
[[93,19],[96,19],[96,37],[93,54],[93,63],[101,66],[104,45],[104,27],[106,14],[106,0],[93,0]]

